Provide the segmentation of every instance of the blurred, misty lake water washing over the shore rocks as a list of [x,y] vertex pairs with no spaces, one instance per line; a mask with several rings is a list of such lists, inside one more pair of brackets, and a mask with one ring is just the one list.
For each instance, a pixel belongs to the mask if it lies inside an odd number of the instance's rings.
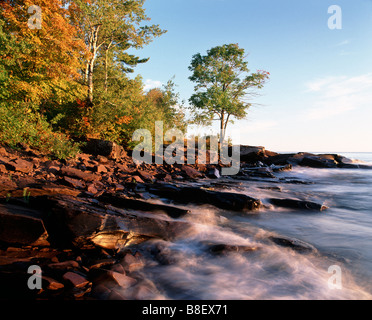
[[[372,153],[348,154],[372,165]],[[266,208],[237,214],[212,206],[190,206],[193,227],[175,242],[158,241],[170,263],[146,268],[164,299],[372,299],[372,170],[295,168],[276,174],[313,184],[241,181],[231,191],[260,198]],[[238,182],[238,181],[236,181]],[[232,184],[233,186],[233,184]],[[305,212],[271,206],[268,198],[324,203]],[[296,238],[317,252],[299,253],[269,237]],[[205,242],[247,245],[258,250],[213,256]],[[342,288],[329,286],[331,266],[341,270]]]

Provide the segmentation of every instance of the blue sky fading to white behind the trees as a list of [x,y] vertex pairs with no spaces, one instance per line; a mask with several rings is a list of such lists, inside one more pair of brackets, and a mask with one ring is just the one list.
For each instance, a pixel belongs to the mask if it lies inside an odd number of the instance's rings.
[[[340,15],[329,13],[332,5]],[[228,125],[234,143],[277,152],[372,152],[372,0],[146,0],[145,8],[151,24],[168,30],[136,51],[150,57],[134,74],[146,89],[174,76],[188,105],[192,56],[238,43],[249,69],[271,76],[247,118]]]

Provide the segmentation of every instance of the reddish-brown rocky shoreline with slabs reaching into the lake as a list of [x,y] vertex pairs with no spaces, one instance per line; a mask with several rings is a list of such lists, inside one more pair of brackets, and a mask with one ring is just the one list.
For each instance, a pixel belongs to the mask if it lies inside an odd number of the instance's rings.
[[[278,154],[241,146],[238,175],[221,178],[218,165],[137,166],[122,147],[91,140],[84,153],[50,160],[27,146],[0,146],[0,299],[162,299],[146,278],[146,257],[164,259],[153,239],[182,236],[190,224],[188,204],[257,214],[265,203],[231,192],[238,180],[311,184],[276,173],[294,166],[364,168],[340,155]],[[186,151],[186,150],[185,150]],[[270,198],[274,207],[309,211],[321,203]],[[300,252],[314,248],[293,239],[268,239]],[[205,244],[211,254],[256,248]],[[147,250],[147,251],[146,251]],[[167,257],[169,259],[169,257]],[[164,261],[163,261],[164,262]],[[165,262],[167,263],[167,262]],[[42,270],[42,288],[27,286],[30,266]]]

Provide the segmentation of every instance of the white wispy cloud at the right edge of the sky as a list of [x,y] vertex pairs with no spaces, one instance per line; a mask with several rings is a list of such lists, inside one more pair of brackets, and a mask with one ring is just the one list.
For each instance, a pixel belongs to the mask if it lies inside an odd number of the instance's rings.
[[317,94],[303,116],[309,120],[327,119],[360,107],[372,106],[372,73],[356,77],[326,77],[307,84],[307,92]]

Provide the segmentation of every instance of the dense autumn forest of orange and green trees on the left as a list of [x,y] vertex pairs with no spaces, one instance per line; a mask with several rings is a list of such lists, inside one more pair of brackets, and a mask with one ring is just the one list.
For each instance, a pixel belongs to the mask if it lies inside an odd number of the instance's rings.
[[175,83],[144,90],[133,52],[163,35],[144,0],[0,3],[0,143],[65,159],[87,139],[131,147],[137,128],[186,130]]

